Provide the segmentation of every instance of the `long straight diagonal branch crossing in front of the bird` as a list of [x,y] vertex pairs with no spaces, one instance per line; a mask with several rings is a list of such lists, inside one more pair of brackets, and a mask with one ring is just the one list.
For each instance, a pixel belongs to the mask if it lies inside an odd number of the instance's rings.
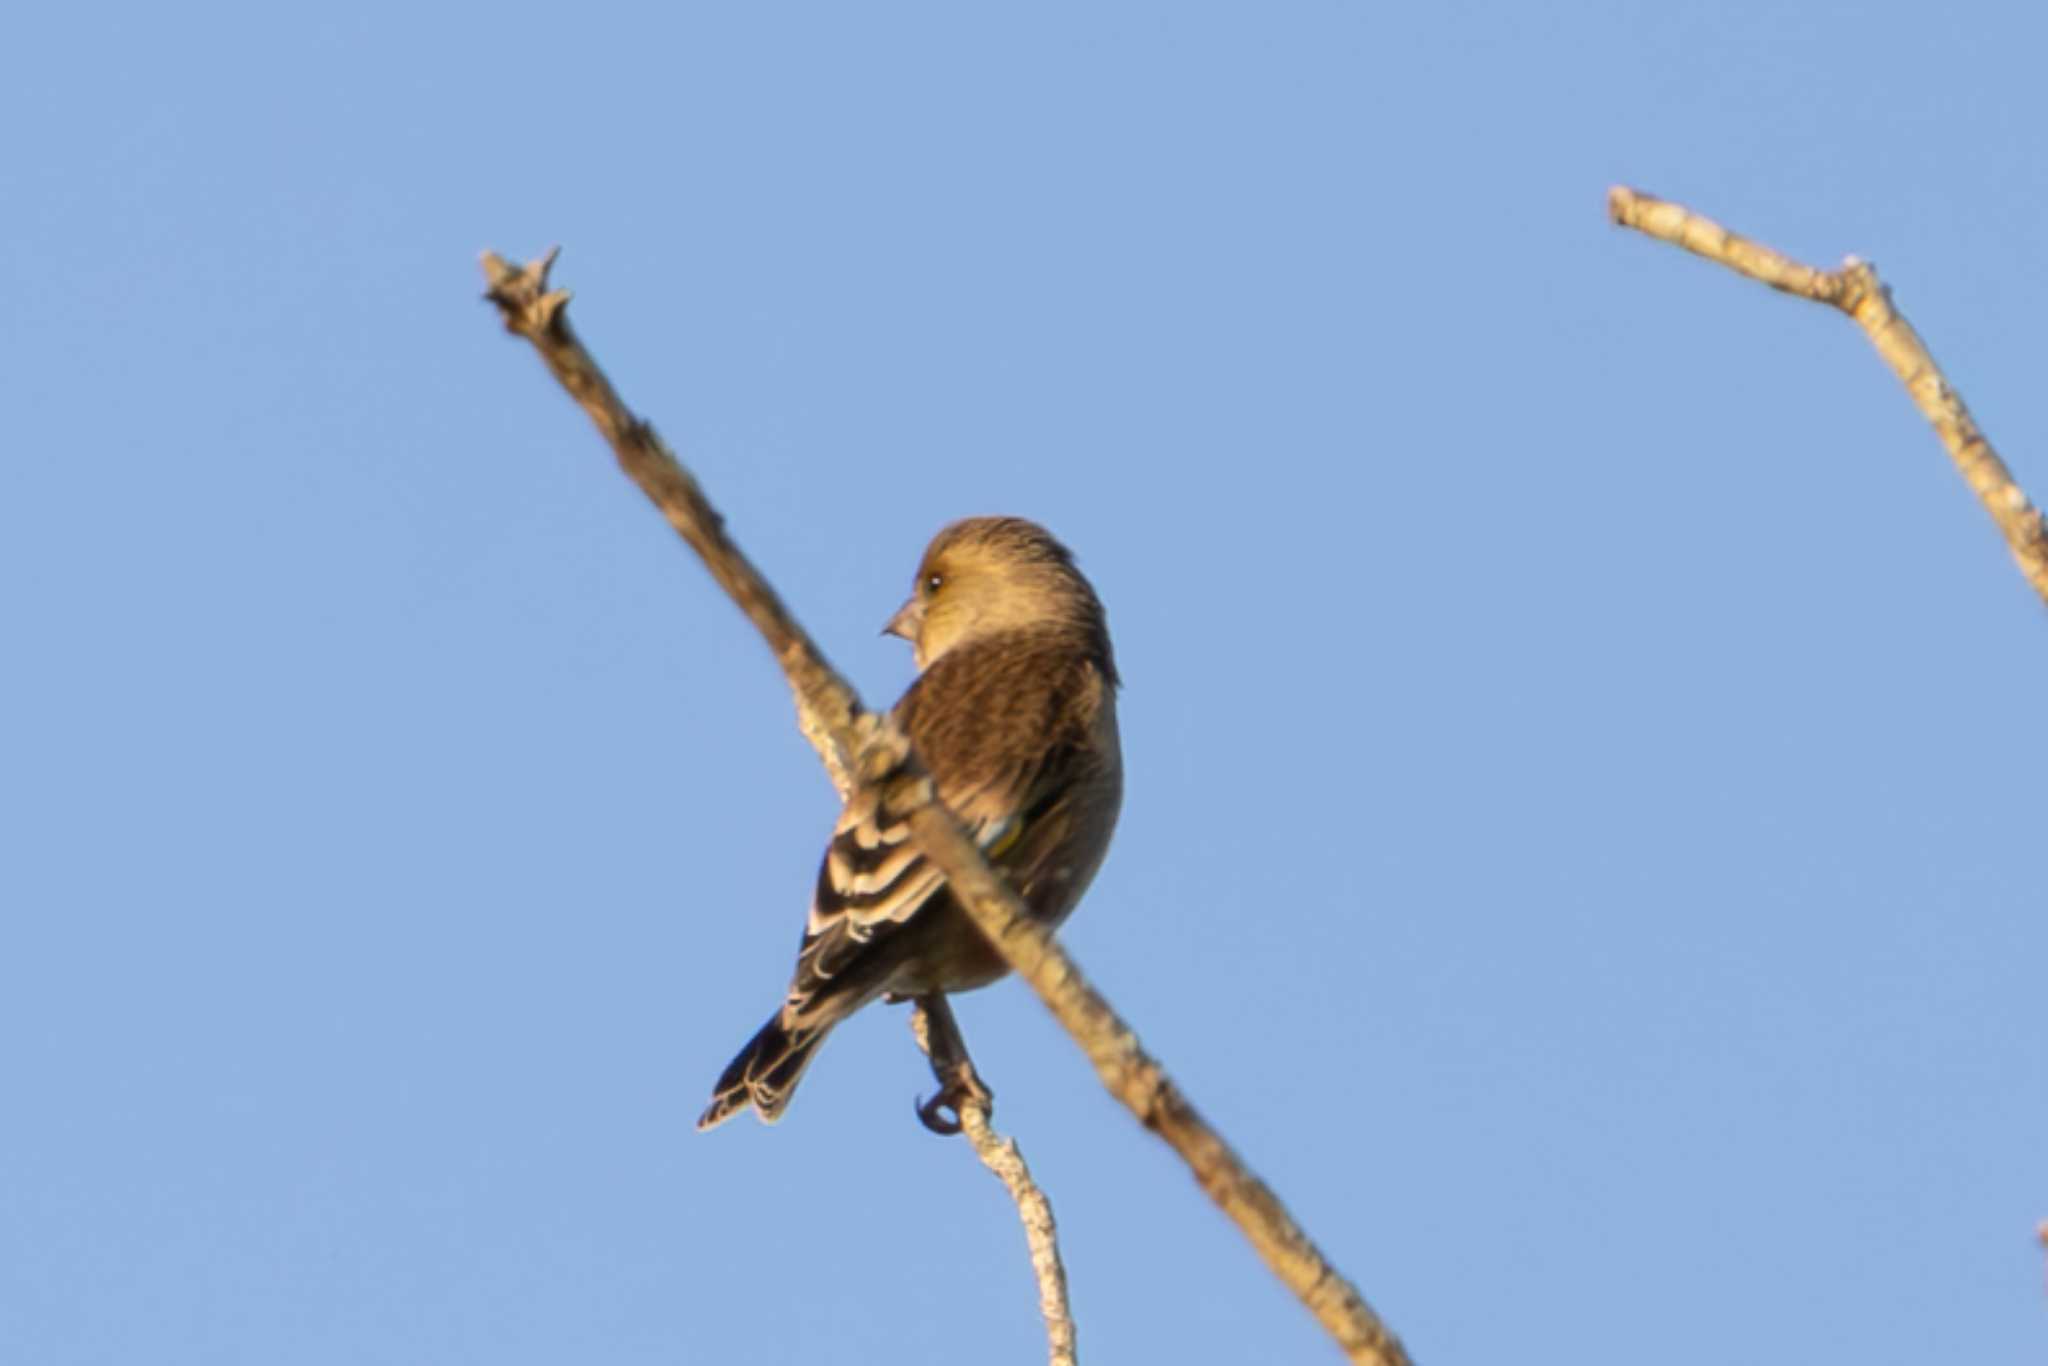
[[930,778],[909,752],[909,741],[887,717],[860,707],[854,690],[825,664],[768,582],[725,537],[717,510],[682,471],[674,453],[655,438],[653,428],[625,408],[569,332],[563,315],[569,295],[547,285],[553,260],[549,252],[541,262],[514,266],[485,252],[483,276],[489,283],[485,297],[500,307],[510,332],[532,342],[569,395],[610,440],[625,471],[766,637],[797,694],[799,725],[834,772],[834,780],[844,791],[846,772],[856,770],[862,782],[885,784],[889,809],[909,819],[920,850],[946,874],[954,901],[1081,1044],[1110,1094],[1182,1155],[1202,1190],[1237,1223],[1274,1276],[1309,1307],[1346,1356],[1372,1366],[1405,1366],[1407,1352],[1401,1341],[1380,1323],[1358,1288],[1323,1257],[1280,1198],[1202,1120],[1159,1063],[1145,1053],[1130,1026],[1087,985],[1073,958],[989,870],[981,850],[938,803]]

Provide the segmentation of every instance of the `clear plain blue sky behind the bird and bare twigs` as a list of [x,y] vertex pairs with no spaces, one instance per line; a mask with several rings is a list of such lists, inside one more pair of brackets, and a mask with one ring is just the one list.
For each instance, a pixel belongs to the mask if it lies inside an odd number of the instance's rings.
[[[612,377],[834,659],[942,522],[1081,555],[1067,942],[1417,1360],[2038,1362],[2048,618],[1839,315],[2048,494],[2017,4],[35,6],[0,84],[0,1343],[1036,1360],[901,1012],[690,1120],[831,791],[504,338]],[[1016,983],[1083,1360],[1327,1360]]]

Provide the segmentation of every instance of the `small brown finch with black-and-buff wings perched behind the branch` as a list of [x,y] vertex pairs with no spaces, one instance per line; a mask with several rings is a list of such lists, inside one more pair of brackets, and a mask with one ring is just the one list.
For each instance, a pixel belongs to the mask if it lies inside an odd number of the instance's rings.
[[[1057,928],[1122,809],[1120,680],[1094,586],[1036,522],[973,516],[932,539],[883,635],[911,645],[918,678],[891,717],[938,799]],[[698,1130],[750,1106],[776,1122],[831,1028],[868,1001],[971,991],[1010,971],[879,786],[846,801],[788,993],[719,1077]]]

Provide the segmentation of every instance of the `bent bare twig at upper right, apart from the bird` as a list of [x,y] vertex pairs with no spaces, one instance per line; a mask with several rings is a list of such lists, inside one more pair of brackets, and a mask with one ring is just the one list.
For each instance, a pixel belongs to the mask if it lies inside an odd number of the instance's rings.
[[1991,449],[1991,440],[1976,428],[1962,395],[1927,354],[1927,344],[1921,342],[1913,324],[1892,307],[1892,291],[1878,279],[1870,262],[1851,256],[1841,262],[1841,270],[1815,270],[1767,246],[1739,238],[1686,205],[1653,199],[1626,186],[1608,190],[1608,217],[1622,227],[1634,227],[1659,242],[1671,242],[1696,256],[1720,262],[1772,289],[1827,303],[1853,317],[1884,362],[1898,375],[1907,393],[1913,395],[1921,416],[1933,424],[1942,446],[1956,463],[1956,471],[1976,492],[1985,512],[2005,537],[2005,545],[2011,547],[2013,559],[2019,561],[2019,573],[2042,596],[2042,602],[2048,602],[2048,522],[2013,479],[2013,471]]

